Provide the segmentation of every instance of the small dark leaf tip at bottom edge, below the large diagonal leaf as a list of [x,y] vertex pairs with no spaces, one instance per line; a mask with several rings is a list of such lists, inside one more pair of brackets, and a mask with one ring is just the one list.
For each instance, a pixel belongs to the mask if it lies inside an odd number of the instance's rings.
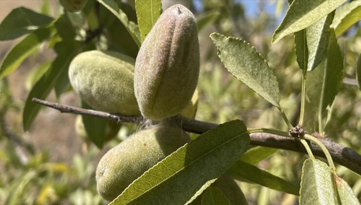
[[210,186],[203,195],[201,205],[231,205],[231,203],[219,188]]

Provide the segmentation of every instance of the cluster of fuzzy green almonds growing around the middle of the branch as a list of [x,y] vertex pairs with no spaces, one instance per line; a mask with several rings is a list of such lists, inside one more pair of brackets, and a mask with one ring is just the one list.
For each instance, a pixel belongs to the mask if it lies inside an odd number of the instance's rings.
[[[180,4],[162,13],[136,61],[113,51],[87,51],[71,62],[69,79],[84,102],[109,113],[141,113],[159,122],[136,132],[101,158],[96,180],[104,199],[116,198],[146,170],[190,141],[177,124],[166,119],[180,113],[194,117],[199,68],[197,23]],[[221,178],[215,185],[232,204],[240,204],[244,197],[237,184],[226,175]]]

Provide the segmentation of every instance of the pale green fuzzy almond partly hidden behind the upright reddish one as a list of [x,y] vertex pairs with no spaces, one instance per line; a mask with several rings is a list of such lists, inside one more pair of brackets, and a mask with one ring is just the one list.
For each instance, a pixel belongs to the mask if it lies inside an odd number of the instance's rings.
[[69,66],[75,92],[91,107],[110,113],[137,115],[134,59],[114,51],[86,51]]

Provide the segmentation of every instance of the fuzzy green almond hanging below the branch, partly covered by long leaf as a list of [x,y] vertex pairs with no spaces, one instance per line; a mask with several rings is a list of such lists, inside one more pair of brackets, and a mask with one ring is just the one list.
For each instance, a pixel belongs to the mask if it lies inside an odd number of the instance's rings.
[[146,170],[189,141],[179,127],[162,124],[131,135],[101,158],[96,171],[98,192],[104,199],[115,199]]

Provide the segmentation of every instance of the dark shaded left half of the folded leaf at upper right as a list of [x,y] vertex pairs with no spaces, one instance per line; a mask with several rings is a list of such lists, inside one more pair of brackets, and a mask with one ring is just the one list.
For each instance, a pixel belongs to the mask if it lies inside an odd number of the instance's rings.
[[295,33],[295,53],[296,61],[301,70],[307,70],[308,63],[308,48],[306,39],[306,29],[297,31]]

